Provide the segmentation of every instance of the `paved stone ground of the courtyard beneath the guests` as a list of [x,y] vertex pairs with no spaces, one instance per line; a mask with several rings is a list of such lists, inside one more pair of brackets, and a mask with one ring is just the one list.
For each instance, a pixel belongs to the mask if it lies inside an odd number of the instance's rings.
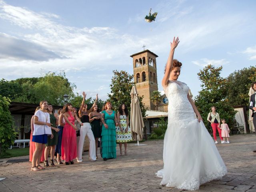
[[[230,144],[217,144],[228,168],[222,180],[200,186],[200,192],[256,192],[255,134],[234,135]],[[161,169],[163,140],[146,141],[145,146],[128,144],[128,156],[96,162],[88,160],[30,171],[29,162],[0,163],[0,192],[180,192],[160,185],[155,172]],[[27,158],[27,157],[20,157]]]

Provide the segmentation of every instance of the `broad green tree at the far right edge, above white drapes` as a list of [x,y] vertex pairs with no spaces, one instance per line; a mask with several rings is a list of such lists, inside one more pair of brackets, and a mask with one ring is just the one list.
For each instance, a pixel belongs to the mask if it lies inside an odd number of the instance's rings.
[[227,78],[228,97],[230,105],[248,106],[248,92],[252,82],[256,82],[256,67],[250,66],[242,70],[234,71]]

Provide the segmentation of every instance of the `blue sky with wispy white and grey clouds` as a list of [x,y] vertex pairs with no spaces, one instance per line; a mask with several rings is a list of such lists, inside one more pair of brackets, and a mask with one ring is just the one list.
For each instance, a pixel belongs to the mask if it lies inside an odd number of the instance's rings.
[[[147,23],[149,9],[158,12]],[[197,95],[197,73],[223,66],[221,76],[256,65],[254,0],[0,0],[0,78],[64,70],[79,94],[105,100],[112,70],[133,74],[130,55],[157,54],[158,89],[173,36],[180,44],[179,80]]]

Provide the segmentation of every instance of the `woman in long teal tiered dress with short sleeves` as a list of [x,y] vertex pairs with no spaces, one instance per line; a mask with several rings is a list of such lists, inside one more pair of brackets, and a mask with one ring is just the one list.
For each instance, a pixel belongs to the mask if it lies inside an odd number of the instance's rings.
[[116,126],[119,122],[116,118],[116,112],[112,110],[112,104],[107,102],[105,110],[102,112],[102,158],[116,158]]

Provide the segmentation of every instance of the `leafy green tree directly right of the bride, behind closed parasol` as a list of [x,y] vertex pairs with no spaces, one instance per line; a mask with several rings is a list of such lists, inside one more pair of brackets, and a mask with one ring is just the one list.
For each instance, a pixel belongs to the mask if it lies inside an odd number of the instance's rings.
[[[212,65],[206,66],[198,73],[198,78],[202,82],[202,90],[195,98],[195,104],[202,118],[206,122],[211,106],[216,106],[220,118],[226,119],[229,127],[233,127],[233,118],[236,112],[227,102],[227,82],[225,78],[220,77],[222,66],[215,68]],[[212,128],[206,124],[208,131]]]

